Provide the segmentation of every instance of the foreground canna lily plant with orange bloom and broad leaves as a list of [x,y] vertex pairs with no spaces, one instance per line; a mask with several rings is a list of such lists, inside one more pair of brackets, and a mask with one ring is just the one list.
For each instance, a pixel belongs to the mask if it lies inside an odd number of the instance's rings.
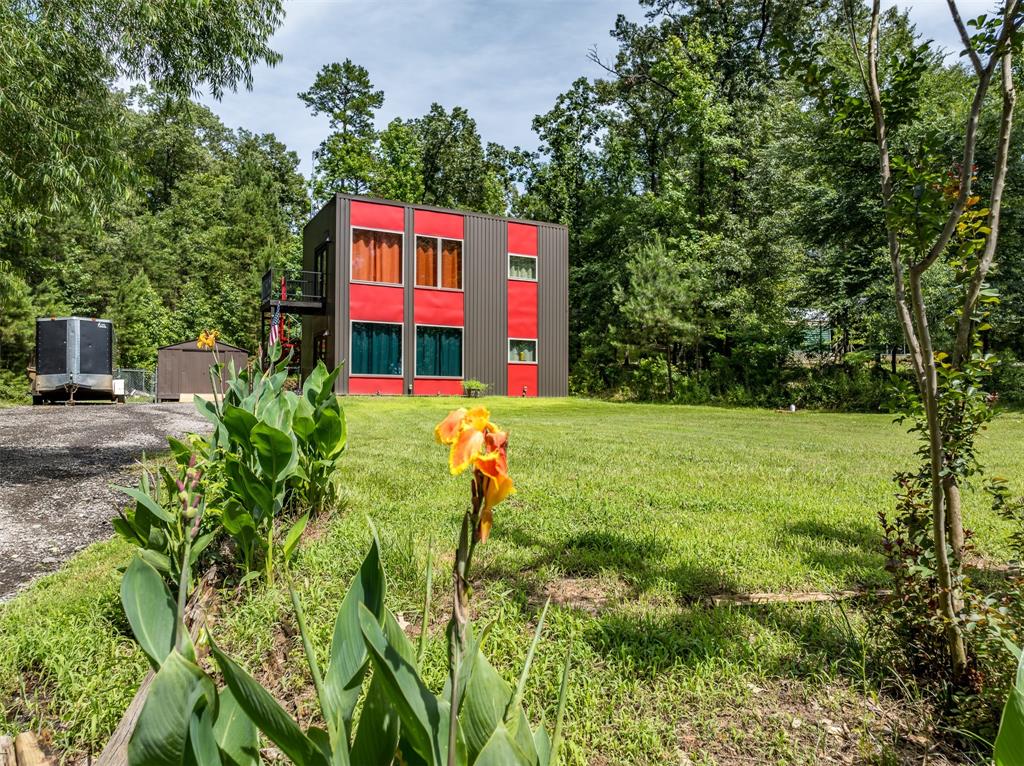
[[[447,633],[452,667],[440,693],[430,689],[421,674],[432,561],[428,557],[417,650],[385,605],[386,578],[376,531],[342,600],[322,670],[291,572],[307,518],[303,516],[286,536],[281,554],[322,724],[303,727],[295,721],[208,635],[224,680],[218,688],[197,663],[187,641],[182,592],[175,602],[156,570],[137,558],[122,583],[122,599],[157,678],[132,735],[131,766],[255,766],[259,762],[257,732],[298,766],[553,766],[560,762],[568,657],[553,732],[549,735],[543,725],[532,729],[522,707],[547,604],[514,689],[482,653],[488,628],[474,634],[469,620],[473,550],[489,535],[495,506],[514,492],[508,470],[508,435],[490,423],[482,409],[452,413],[437,426],[435,435],[451,448],[453,473],[472,469],[471,502],[456,555]],[[185,587],[183,580],[181,588]]]

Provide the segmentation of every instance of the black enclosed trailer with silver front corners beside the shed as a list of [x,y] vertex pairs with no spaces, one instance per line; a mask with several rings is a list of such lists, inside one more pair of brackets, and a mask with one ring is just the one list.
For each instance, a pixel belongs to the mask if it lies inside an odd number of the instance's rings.
[[84,316],[36,320],[32,401],[116,400],[114,323]]

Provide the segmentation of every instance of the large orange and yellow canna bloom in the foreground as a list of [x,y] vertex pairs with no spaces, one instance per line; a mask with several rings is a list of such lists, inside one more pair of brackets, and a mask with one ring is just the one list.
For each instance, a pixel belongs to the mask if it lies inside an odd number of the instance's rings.
[[494,508],[515,492],[509,476],[508,434],[490,422],[484,407],[459,408],[434,428],[434,438],[449,444],[449,469],[452,475],[470,466],[483,484],[483,507],[476,529],[478,540],[486,542],[490,534]]

